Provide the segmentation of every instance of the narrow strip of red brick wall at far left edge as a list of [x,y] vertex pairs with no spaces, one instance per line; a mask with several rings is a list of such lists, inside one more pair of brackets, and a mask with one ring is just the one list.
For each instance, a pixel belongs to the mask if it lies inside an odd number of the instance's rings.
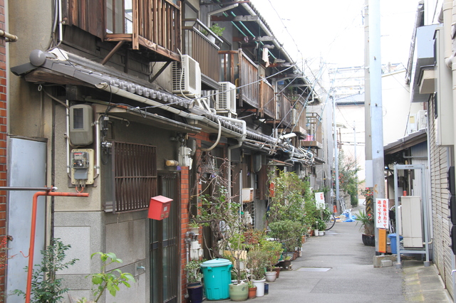
[[[0,0],[0,29],[5,27],[5,1]],[[0,39],[0,186],[6,186],[6,42]],[[0,294],[5,289],[6,191],[0,191]],[[4,302],[0,295],[0,302]]]

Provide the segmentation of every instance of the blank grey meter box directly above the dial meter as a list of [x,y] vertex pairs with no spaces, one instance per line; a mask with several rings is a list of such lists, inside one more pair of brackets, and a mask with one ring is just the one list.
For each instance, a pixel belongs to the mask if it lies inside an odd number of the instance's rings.
[[90,105],[70,107],[70,142],[75,146],[93,143],[93,109]]

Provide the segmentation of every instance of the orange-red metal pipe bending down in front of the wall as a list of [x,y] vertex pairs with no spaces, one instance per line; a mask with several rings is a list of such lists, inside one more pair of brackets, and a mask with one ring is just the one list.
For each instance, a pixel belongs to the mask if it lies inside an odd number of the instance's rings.
[[28,249],[26,303],[30,303],[31,295],[31,274],[33,270],[33,251],[35,250],[36,208],[38,204],[38,196],[88,197],[88,193],[54,193],[51,191],[38,191],[33,195],[33,206],[31,211],[30,248]]

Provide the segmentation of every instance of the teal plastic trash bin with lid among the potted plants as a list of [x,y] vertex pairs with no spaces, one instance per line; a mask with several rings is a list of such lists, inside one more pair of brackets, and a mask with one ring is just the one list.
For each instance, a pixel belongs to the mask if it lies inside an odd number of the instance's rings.
[[201,263],[206,299],[222,300],[229,298],[232,266],[230,260],[221,258]]

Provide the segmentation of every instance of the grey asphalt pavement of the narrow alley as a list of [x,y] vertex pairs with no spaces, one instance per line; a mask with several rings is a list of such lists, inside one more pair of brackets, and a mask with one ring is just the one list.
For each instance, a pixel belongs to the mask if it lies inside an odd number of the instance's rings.
[[[356,212],[356,210],[355,210]],[[403,268],[373,267],[375,248],[363,245],[356,222],[337,222],[307,238],[301,257],[269,283],[261,302],[452,302],[435,266],[404,260]]]

